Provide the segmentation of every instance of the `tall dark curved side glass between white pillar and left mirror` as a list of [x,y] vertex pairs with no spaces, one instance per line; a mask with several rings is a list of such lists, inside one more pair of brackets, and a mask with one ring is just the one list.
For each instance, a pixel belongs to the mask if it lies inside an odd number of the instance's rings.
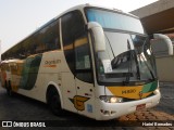
[[62,37],[64,54],[72,73],[79,80],[92,82],[89,43],[79,11],[62,17]]

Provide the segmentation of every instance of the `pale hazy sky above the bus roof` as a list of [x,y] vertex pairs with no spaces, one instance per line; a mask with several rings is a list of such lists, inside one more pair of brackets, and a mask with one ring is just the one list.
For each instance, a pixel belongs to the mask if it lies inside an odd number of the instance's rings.
[[134,11],[158,0],[0,0],[1,53],[63,11],[84,3]]

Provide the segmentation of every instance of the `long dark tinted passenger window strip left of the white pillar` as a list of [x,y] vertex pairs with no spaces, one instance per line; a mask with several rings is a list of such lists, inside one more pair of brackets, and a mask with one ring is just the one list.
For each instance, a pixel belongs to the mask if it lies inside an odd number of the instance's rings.
[[59,50],[60,48],[59,21],[57,20],[18,43],[16,54],[21,58],[25,58],[32,54]]

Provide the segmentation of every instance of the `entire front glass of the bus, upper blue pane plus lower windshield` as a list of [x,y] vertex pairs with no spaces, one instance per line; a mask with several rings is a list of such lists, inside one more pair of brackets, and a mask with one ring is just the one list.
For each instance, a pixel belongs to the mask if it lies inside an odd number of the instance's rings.
[[[98,17],[91,11],[102,13]],[[112,18],[111,24],[108,24],[108,17]],[[150,41],[146,35],[142,35],[144,29],[139,20],[96,9],[89,9],[89,14],[87,10],[87,20],[100,23],[105,35],[105,51],[95,52],[99,82],[147,83],[157,79]]]

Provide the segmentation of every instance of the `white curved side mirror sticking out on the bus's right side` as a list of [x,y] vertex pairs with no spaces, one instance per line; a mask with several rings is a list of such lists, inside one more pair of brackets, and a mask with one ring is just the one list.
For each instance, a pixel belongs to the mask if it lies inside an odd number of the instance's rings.
[[156,56],[173,55],[173,44],[167,36],[153,34],[153,39],[151,39],[150,43]]

